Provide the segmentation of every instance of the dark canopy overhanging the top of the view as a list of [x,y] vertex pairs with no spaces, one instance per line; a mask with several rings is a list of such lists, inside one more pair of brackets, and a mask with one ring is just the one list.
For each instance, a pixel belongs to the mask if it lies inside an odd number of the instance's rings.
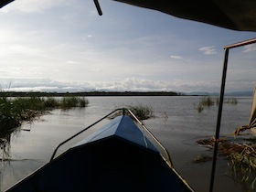
[[[14,0],[0,0],[0,8]],[[113,0],[210,25],[256,31],[255,0]],[[98,0],[94,0],[98,3]]]

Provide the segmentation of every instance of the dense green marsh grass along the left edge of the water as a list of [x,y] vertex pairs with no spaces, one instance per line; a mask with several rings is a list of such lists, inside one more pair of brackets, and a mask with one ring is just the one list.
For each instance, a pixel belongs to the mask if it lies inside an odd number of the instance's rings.
[[86,98],[74,96],[64,97],[60,101],[52,97],[0,97],[0,137],[50,110],[86,107],[88,103]]

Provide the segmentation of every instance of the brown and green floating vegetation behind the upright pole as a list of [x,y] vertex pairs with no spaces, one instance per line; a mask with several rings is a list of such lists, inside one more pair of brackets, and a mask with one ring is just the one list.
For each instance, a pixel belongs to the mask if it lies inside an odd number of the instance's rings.
[[[250,144],[237,144],[227,140],[217,142],[219,154],[224,155],[229,160],[231,176],[234,180],[251,189],[256,187],[256,144],[255,137],[246,139]],[[215,140],[203,139],[197,144],[208,145],[210,148],[215,144]],[[202,160],[204,159],[201,157]],[[198,160],[199,161],[199,160]]]

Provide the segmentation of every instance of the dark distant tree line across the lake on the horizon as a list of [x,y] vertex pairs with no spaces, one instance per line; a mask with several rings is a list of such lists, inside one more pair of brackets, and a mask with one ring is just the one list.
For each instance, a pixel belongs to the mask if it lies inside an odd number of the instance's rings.
[[174,91],[88,91],[88,92],[19,92],[0,91],[0,97],[63,97],[63,96],[183,96]]

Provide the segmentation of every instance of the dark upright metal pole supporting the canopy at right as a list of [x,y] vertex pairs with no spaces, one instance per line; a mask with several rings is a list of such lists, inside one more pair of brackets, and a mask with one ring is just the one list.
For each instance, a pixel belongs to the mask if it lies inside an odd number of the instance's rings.
[[228,69],[228,60],[229,60],[229,48],[226,48],[225,56],[224,56],[223,71],[222,71],[220,95],[219,95],[219,112],[218,112],[218,119],[217,119],[217,125],[216,125],[216,133],[215,133],[215,143],[214,143],[214,151],[213,151],[213,161],[212,161],[212,168],[211,168],[209,192],[213,191],[213,186],[214,186],[215,169],[216,169],[216,162],[217,162],[217,155],[218,155],[219,130],[220,130],[222,106],[223,106],[223,100],[224,100],[224,91],[225,91],[226,76],[227,76],[227,69]]

